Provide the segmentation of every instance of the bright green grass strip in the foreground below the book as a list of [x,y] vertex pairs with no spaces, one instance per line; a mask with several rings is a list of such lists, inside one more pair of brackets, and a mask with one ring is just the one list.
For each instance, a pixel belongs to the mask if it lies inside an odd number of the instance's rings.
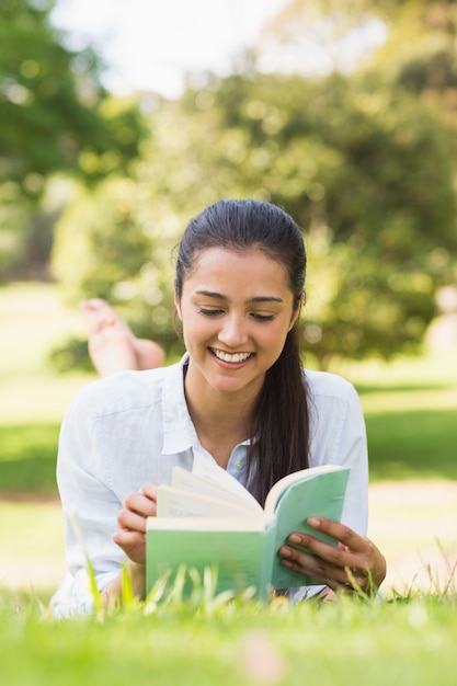
[[455,597],[320,606],[167,605],[57,621],[39,598],[0,596],[9,686],[455,684]]

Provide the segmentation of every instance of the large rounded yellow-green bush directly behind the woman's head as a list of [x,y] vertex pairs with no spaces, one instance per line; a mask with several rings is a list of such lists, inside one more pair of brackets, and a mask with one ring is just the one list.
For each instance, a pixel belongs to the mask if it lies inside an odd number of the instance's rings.
[[448,147],[433,113],[373,76],[229,77],[157,103],[132,181],[81,194],[59,222],[55,274],[75,296],[128,302],[170,345],[168,258],[187,219],[264,198],[305,230],[306,347],[322,366],[419,350],[457,248]]

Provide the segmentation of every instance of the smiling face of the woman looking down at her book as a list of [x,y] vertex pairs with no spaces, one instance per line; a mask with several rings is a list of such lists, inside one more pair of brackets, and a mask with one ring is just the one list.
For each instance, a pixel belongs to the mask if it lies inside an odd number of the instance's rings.
[[286,267],[264,252],[203,250],[175,302],[190,355],[186,388],[254,399],[298,315],[293,301]]

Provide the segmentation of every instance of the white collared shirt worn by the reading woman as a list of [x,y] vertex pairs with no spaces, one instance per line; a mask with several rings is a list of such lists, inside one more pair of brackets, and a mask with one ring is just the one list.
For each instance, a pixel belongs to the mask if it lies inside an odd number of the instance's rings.
[[[183,364],[122,371],[80,390],[62,422],[57,481],[65,517],[69,575],[52,604],[58,616],[89,611],[84,575],[91,561],[99,590],[119,572],[124,552],[113,542],[125,496],[146,482],[171,483],[175,465],[192,469],[199,444],[184,397]],[[368,465],[365,422],[354,387],[306,370],[310,405],[310,467],[349,465],[342,522],[366,535]],[[237,445],[227,471],[244,483],[248,442]],[[313,586],[311,594],[321,586]],[[306,591],[306,588],[305,588]]]

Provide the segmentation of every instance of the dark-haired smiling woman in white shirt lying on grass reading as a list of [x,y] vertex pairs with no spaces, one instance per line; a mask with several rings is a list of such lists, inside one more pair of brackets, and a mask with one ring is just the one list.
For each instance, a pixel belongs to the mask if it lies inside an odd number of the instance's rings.
[[64,419],[58,484],[70,576],[66,594],[55,599],[57,613],[88,608],[78,583],[87,557],[105,605],[122,595],[124,561],[134,592],[145,596],[146,518],[156,515],[157,484],[171,481],[175,465],[192,469],[194,449],[260,502],[286,473],[350,465],[343,524],[310,521],[339,546],[292,531],[294,547],[278,554],[321,584],[295,591],[296,597],[329,598],[354,583],[369,592],[382,582],[384,557],[365,537],[367,455],[358,398],[342,378],[300,365],[305,272],[301,232],[274,205],[221,201],[191,220],[174,284],[183,359],[95,381]]

